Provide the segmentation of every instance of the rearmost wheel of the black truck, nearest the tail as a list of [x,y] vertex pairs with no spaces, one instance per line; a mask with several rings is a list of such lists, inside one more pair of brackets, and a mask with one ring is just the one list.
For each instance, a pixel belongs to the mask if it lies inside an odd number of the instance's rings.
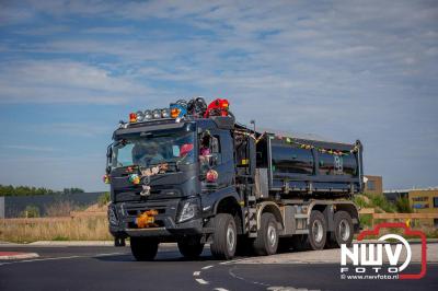
[[330,235],[333,245],[335,247],[339,247],[342,244],[350,246],[354,234],[351,217],[346,211],[337,211],[333,220],[335,230]]

